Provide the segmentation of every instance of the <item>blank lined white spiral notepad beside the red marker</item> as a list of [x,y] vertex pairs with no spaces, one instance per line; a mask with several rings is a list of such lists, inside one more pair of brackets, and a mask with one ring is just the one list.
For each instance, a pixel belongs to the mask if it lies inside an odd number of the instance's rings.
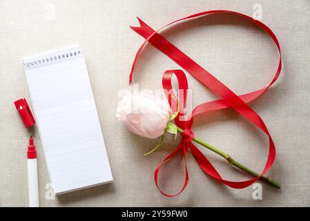
[[55,194],[113,182],[81,49],[29,57],[23,67]]

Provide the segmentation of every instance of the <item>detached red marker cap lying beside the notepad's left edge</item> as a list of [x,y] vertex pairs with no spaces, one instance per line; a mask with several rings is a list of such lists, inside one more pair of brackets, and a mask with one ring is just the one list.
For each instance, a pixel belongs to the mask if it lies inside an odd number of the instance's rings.
[[14,105],[26,128],[35,125],[35,117],[33,117],[25,98],[15,101]]

